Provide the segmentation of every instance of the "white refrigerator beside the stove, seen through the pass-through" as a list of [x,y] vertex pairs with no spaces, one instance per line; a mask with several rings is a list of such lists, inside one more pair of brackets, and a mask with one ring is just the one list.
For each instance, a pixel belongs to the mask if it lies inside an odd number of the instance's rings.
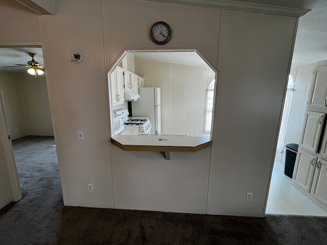
[[161,133],[160,88],[138,87],[139,99],[132,102],[133,116],[149,116],[151,134]]

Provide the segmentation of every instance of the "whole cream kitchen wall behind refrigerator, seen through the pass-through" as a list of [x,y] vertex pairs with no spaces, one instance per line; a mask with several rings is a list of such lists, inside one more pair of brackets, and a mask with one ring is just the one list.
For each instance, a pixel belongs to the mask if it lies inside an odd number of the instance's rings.
[[161,133],[195,134],[198,130],[204,134],[206,91],[213,80],[209,68],[142,59],[134,63],[145,87],[161,88]]

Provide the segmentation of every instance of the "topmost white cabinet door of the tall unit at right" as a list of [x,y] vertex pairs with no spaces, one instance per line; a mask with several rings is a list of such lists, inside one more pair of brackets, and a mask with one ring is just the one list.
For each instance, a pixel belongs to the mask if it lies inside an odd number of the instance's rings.
[[315,69],[308,108],[327,109],[327,67]]

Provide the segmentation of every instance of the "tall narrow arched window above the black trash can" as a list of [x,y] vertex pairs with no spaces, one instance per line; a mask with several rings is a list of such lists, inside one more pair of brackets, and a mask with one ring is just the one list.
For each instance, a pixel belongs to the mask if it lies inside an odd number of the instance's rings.
[[282,152],[284,149],[286,128],[287,128],[288,118],[290,115],[293,91],[294,91],[294,80],[293,80],[293,77],[291,75],[289,75],[284,109],[283,109],[283,116],[282,116],[282,121],[281,121],[281,128],[279,129],[279,135],[278,135],[278,141],[277,141],[277,152]]

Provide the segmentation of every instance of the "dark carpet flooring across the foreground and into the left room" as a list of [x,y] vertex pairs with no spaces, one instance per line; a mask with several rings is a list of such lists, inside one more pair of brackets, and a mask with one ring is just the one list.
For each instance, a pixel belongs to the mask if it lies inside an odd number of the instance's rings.
[[64,207],[53,137],[13,140],[23,198],[0,210],[0,244],[327,244],[327,218]]

